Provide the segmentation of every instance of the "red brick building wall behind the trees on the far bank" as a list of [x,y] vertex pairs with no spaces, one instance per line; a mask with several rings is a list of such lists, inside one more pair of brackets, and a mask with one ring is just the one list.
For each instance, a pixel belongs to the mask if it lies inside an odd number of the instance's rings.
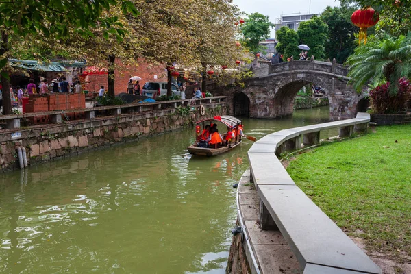
[[[117,62],[121,64],[121,61]],[[121,92],[127,92],[127,83],[132,76],[139,76],[142,78],[140,81],[140,86],[145,84],[145,82],[166,82],[167,75],[165,71],[165,65],[154,65],[147,64],[143,60],[138,60],[138,66],[125,66],[124,69],[116,70],[116,81],[114,85],[114,90],[116,94]],[[154,79],[154,75],[157,75],[157,79]],[[105,90],[108,88],[108,75],[88,75],[85,82],[90,82],[85,84],[85,90],[89,91],[99,91],[100,86],[104,86]]]

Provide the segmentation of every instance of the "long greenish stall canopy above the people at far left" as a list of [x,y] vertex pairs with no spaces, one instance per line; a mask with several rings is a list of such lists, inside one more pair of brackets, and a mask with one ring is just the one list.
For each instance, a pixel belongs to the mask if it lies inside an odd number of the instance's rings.
[[28,69],[30,71],[53,71],[62,72],[67,71],[66,67],[84,67],[86,63],[78,61],[62,60],[58,62],[39,63],[35,60],[17,60],[9,59],[11,66],[21,69]]

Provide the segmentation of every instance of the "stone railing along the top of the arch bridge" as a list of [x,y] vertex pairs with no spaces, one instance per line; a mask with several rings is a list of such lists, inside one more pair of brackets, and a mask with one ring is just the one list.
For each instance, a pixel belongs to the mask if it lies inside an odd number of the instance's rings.
[[284,71],[321,71],[332,73],[335,75],[347,76],[348,67],[336,62],[321,62],[321,61],[295,61],[283,62],[279,64],[271,64],[269,66],[269,74],[282,73]]

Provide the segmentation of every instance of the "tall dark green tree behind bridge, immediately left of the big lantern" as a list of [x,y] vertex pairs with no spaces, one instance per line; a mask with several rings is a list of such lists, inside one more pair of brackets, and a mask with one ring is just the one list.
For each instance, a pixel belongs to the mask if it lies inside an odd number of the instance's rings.
[[321,19],[328,25],[328,37],[325,42],[325,58],[336,58],[339,64],[344,64],[348,56],[356,48],[355,33],[358,27],[351,23],[351,14],[355,8],[327,7],[321,14]]

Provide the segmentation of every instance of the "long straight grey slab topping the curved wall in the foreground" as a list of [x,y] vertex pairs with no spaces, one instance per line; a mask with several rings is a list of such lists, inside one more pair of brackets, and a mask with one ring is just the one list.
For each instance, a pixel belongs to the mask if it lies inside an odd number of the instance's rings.
[[301,266],[321,264],[365,273],[382,273],[297,186],[259,185],[258,195]]

